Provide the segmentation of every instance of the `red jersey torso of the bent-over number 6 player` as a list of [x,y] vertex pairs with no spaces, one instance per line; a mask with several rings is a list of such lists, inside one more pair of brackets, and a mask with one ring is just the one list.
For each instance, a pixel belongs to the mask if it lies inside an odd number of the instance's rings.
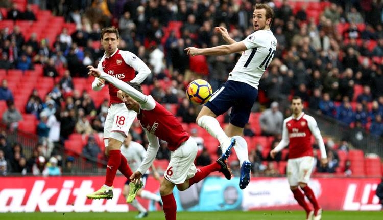
[[177,118],[158,102],[152,110],[140,109],[137,119],[143,128],[166,141],[167,148],[172,151],[190,138]]

